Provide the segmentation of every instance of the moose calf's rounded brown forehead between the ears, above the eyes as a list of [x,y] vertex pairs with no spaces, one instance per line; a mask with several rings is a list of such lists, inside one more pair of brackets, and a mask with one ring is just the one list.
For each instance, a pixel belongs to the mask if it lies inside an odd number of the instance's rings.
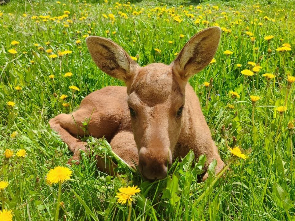
[[171,97],[182,97],[179,85],[173,79],[171,66],[165,64],[149,64],[140,68],[131,87],[131,92],[135,92],[148,106],[164,103]]

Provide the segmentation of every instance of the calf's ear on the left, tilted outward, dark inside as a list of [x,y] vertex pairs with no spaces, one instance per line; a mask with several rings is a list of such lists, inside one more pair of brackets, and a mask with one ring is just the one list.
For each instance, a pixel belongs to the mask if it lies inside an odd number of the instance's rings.
[[86,45],[95,64],[114,78],[127,81],[139,68],[123,48],[107,38],[89,36]]

